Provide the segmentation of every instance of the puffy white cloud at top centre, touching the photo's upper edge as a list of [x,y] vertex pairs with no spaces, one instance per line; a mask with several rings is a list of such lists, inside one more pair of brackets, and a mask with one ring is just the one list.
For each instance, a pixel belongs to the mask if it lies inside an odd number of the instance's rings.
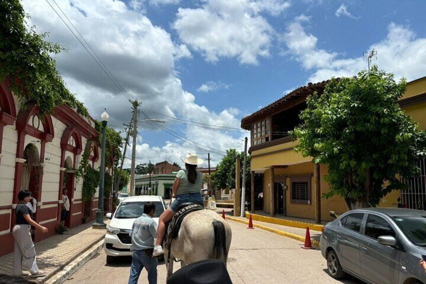
[[196,9],[179,8],[172,27],[182,42],[207,61],[238,58],[257,64],[268,57],[274,30],[261,13],[278,15],[290,4],[278,0],[204,0]]

